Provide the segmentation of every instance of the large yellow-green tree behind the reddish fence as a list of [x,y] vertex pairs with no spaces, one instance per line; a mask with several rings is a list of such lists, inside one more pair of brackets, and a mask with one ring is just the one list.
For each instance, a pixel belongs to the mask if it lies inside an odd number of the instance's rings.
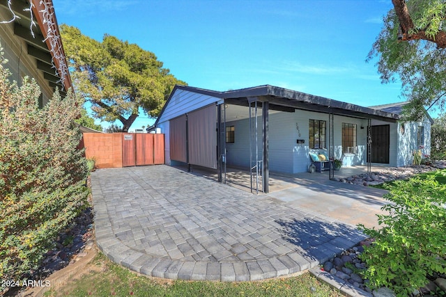
[[123,131],[140,108],[156,117],[175,84],[185,84],[138,45],[107,34],[98,42],[73,26],[60,29],[75,89],[91,102],[96,118],[119,120]]

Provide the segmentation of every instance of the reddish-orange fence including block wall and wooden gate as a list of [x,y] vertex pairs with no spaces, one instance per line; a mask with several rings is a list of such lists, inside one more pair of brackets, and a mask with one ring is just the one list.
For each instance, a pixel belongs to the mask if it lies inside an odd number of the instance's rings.
[[164,164],[164,134],[84,133],[83,143],[96,168]]

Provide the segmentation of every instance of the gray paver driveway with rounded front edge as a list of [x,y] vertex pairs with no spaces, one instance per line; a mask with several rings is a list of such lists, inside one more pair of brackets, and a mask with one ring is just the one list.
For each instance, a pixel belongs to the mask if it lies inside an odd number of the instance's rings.
[[353,225],[169,166],[97,170],[92,192],[100,250],[159,278],[275,278],[364,239]]

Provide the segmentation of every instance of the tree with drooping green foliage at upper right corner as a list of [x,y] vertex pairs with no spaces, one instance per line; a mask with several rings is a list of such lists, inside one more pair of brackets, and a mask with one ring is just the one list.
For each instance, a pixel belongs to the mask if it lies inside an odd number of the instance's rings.
[[444,109],[446,95],[446,1],[392,0],[394,9],[367,61],[378,56],[383,83],[402,83],[406,116],[419,120],[426,109]]

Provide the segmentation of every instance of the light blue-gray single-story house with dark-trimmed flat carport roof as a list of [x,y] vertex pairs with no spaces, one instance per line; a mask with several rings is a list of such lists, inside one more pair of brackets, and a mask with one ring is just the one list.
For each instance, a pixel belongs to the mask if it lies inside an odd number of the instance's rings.
[[[402,124],[400,109],[377,107],[275,86],[226,92],[176,86],[155,127],[166,135],[168,165],[217,169],[220,180],[226,165],[252,168],[266,181],[269,170],[305,172],[309,152],[325,151],[344,166],[405,166],[418,145],[429,154],[428,116]],[[268,182],[263,184],[268,192]]]

